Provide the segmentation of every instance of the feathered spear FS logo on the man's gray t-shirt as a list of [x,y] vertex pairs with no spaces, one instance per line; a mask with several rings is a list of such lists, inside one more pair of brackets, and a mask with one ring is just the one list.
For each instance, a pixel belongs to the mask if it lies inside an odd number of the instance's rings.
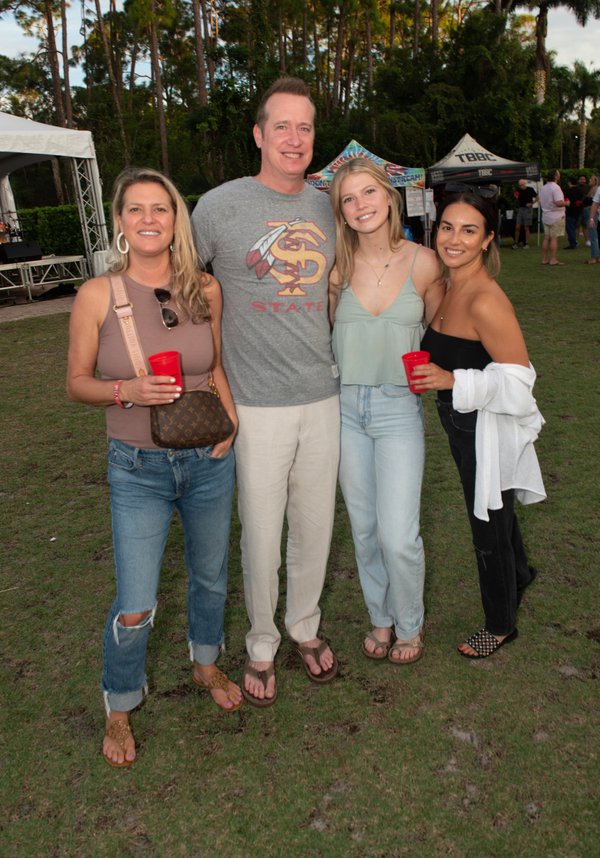
[[327,261],[319,248],[324,232],[312,221],[269,221],[271,230],[246,254],[248,268],[259,280],[270,274],[279,283],[278,295],[306,295],[305,286],[318,283]]

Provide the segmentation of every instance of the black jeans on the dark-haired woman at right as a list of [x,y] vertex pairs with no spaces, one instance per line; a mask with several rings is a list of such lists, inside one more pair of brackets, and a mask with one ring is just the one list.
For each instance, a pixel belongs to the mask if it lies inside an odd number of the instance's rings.
[[463,487],[473,546],[479,570],[479,589],[485,627],[495,635],[510,634],[517,623],[521,595],[532,581],[532,570],[514,512],[514,491],[502,492],[501,509],[488,510],[489,521],[473,514],[475,505],[475,427],[477,411],[455,411],[450,402],[437,400],[438,414]]

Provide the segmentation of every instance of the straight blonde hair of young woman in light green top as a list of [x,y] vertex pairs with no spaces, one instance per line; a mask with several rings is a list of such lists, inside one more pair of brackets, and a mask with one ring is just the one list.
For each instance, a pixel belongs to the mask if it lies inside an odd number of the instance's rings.
[[383,188],[390,200],[389,226],[390,247],[395,249],[402,239],[402,197],[393,187],[388,174],[370,158],[352,158],[339,167],[331,182],[331,205],[335,216],[335,267],[338,285],[350,281],[354,268],[354,254],[358,249],[358,233],[348,226],[342,212],[342,182],[351,173],[366,173],[373,181]]

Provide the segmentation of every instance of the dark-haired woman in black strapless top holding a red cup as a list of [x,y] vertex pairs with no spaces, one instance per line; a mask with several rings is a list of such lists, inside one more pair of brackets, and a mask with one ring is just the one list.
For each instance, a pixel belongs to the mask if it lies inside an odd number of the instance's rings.
[[485,626],[458,645],[461,655],[485,658],[517,637],[517,608],[535,570],[529,565],[514,513],[514,491],[502,492],[502,508],[489,521],[474,513],[478,411],[452,405],[454,370],[483,370],[492,361],[529,367],[529,357],[513,307],[494,280],[499,255],[494,243],[495,206],[465,189],[447,196],[438,216],[436,251],[448,289],[427,329],[422,348],[431,363],[418,367],[423,391],[436,390],[437,405],[461,478],[479,570]]

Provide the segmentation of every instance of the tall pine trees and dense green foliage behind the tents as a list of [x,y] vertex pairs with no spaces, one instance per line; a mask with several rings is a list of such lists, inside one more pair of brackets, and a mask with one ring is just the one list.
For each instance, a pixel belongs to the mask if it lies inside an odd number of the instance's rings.
[[352,138],[429,166],[466,131],[513,160],[598,163],[597,73],[545,50],[556,5],[600,16],[600,0],[83,0],[72,34],[66,0],[0,0],[39,38],[32,56],[0,56],[0,105],[91,130],[105,186],[127,163],[184,193],[255,171],[256,103],[281,74],[311,86],[315,168]]

